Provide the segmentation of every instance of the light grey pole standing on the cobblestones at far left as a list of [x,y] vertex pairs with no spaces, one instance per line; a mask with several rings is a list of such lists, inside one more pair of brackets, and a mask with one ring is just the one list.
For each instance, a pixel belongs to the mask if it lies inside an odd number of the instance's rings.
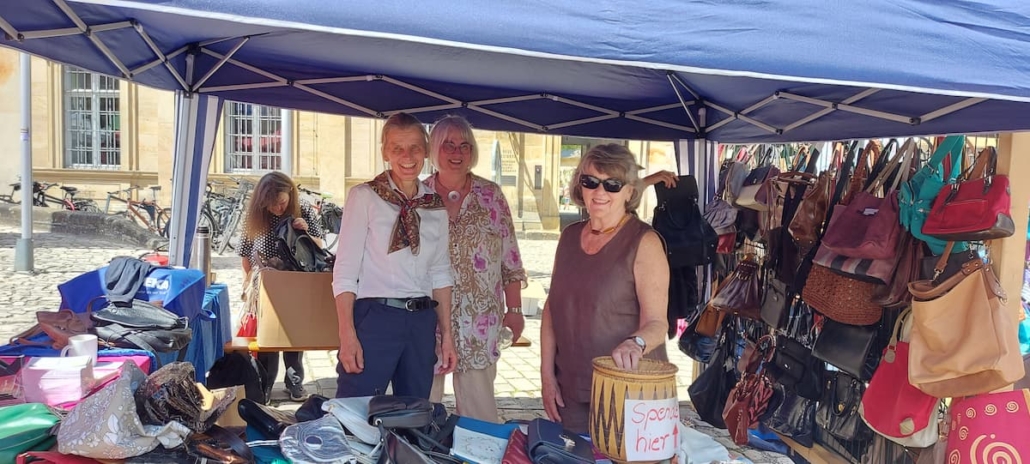
[[14,245],[14,270],[35,270],[32,244],[32,58],[21,54],[22,67],[22,238]]

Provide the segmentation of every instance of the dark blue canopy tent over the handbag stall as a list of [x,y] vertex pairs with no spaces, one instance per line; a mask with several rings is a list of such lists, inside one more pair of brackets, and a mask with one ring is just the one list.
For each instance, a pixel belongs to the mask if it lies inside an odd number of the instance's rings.
[[582,136],[809,141],[1030,129],[1030,4],[0,0],[0,45],[174,90],[188,257],[222,98]]

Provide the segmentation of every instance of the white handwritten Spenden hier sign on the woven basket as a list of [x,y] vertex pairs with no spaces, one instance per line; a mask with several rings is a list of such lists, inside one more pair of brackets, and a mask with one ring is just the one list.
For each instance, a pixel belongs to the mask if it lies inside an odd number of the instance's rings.
[[626,399],[626,461],[661,461],[676,455],[680,404],[677,399]]

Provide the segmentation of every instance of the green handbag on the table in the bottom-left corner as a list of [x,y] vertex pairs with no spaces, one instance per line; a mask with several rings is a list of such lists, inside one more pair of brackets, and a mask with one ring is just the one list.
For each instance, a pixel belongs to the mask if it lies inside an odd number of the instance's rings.
[[14,462],[22,453],[53,446],[57,438],[52,430],[58,422],[42,403],[0,407],[0,462]]

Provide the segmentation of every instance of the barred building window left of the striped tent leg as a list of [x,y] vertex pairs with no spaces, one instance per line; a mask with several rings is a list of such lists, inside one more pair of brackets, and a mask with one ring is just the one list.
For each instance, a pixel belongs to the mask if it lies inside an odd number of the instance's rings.
[[64,68],[65,164],[75,169],[122,167],[118,79]]

